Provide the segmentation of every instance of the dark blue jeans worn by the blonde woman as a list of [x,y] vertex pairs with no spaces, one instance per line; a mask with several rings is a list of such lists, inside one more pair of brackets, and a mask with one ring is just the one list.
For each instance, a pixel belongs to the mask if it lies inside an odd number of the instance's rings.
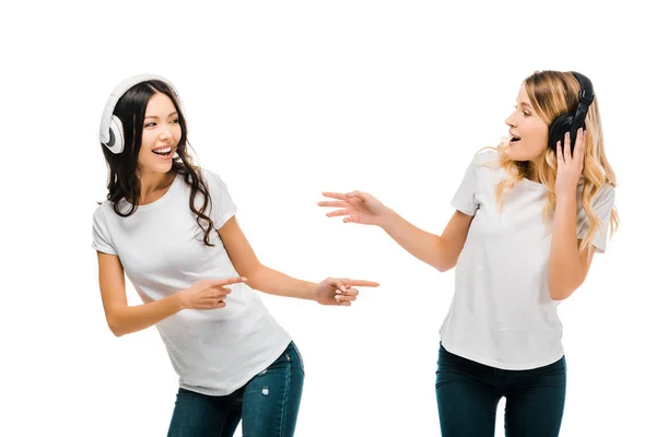
[[501,397],[506,399],[506,437],[558,436],[566,370],[564,356],[530,370],[503,370],[452,354],[441,344],[435,391],[442,436],[494,436]]

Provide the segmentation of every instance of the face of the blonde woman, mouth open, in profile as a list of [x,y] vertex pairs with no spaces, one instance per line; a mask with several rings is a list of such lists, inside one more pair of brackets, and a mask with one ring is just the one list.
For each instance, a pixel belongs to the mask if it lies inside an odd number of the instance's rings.
[[511,135],[507,156],[513,161],[536,162],[547,149],[549,126],[536,115],[524,85],[519,88],[515,111],[505,123]]

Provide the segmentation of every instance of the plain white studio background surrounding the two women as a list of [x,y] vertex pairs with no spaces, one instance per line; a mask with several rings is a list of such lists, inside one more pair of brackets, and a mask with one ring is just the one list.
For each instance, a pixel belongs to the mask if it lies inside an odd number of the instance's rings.
[[101,113],[136,73],[176,85],[199,162],[229,185],[263,263],[382,284],[351,308],[263,296],[305,359],[296,435],[440,435],[437,330],[453,271],[316,202],[324,190],[370,191],[442,233],[467,164],[506,133],[538,69],[591,79],[622,218],[560,306],[561,435],[654,433],[656,35],[637,2],[15,3],[0,19],[0,435],[166,433],[168,356],[154,328],[110,333],[91,249],[106,192]]

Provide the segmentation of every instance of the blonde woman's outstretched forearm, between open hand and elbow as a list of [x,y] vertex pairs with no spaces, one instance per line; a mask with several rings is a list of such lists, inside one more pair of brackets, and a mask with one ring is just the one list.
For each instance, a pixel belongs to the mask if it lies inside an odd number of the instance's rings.
[[379,226],[410,255],[441,272],[454,267],[441,236],[420,229],[394,210],[387,209]]

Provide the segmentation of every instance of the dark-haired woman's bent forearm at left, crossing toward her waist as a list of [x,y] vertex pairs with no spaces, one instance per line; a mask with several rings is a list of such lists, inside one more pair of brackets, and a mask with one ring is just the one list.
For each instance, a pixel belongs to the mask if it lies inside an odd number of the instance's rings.
[[148,304],[116,308],[107,317],[107,323],[112,332],[120,336],[150,328],[181,309],[179,296],[174,294]]

